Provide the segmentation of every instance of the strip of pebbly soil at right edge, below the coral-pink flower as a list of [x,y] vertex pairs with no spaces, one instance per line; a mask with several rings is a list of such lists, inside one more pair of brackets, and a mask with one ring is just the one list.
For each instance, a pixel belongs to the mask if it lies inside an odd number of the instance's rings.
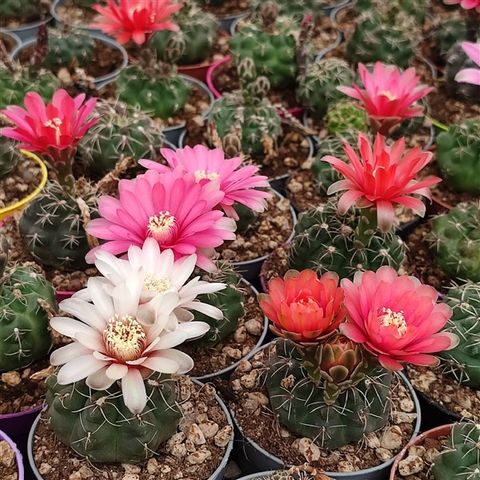
[[437,405],[475,423],[480,421],[480,391],[461,385],[448,374],[448,366],[438,368],[409,366],[412,385]]

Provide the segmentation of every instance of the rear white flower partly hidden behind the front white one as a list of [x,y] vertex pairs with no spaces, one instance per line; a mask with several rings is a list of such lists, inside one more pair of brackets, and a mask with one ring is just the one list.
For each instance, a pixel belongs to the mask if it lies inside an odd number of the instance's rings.
[[[158,242],[153,238],[147,238],[142,248],[132,245],[128,249],[127,258],[127,260],[120,259],[105,251],[97,253],[95,266],[105,277],[102,281],[106,288],[137,277],[143,284],[140,300],[142,303],[152,300],[157,295],[178,293],[179,302],[172,315],[174,318],[171,319],[173,325],[176,321],[192,320],[191,310],[216,320],[223,318],[223,312],[220,309],[196,300],[198,295],[214,293],[226,288],[223,283],[205,282],[200,280],[200,277],[188,281],[195,269],[196,255],[175,261],[172,250],[160,252]],[[77,292],[74,296],[85,300],[91,299],[87,289]]]

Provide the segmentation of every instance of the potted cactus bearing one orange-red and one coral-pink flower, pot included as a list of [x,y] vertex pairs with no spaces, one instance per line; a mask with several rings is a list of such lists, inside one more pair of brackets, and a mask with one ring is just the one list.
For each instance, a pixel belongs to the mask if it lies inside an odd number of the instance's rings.
[[260,469],[306,461],[333,478],[384,478],[420,426],[402,364],[436,364],[431,354],[457,342],[441,331],[451,311],[437,299],[391,267],[341,286],[312,270],[272,279],[259,302],[282,338],[231,381],[247,458]]

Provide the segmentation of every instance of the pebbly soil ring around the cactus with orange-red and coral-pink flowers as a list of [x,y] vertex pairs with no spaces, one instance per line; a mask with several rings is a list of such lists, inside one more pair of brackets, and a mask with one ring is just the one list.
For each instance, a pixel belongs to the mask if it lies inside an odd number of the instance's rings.
[[[272,348],[266,347],[254,355],[250,362],[245,362],[236,370],[231,381],[235,400],[230,407],[235,418],[245,436],[267,452],[279,457],[287,465],[301,465],[308,461],[310,466],[327,472],[358,472],[393,458],[410,441],[417,415],[410,393],[395,378],[391,388],[392,413],[384,428],[370,433],[365,442],[336,450],[327,450],[312,442],[313,445],[310,444],[302,454],[297,446],[301,437],[282,427],[275,418],[269,405],[268,392],[262,384],[265,364]],[[398,434],[401,432],[401,446],[394,447],[384,441],[394,431]],[[313,451],[319,452],[319,455],[313,457]]]

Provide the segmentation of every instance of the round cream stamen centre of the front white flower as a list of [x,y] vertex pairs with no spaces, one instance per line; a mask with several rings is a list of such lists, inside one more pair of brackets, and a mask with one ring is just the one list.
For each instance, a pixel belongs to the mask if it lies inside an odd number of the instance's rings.
[[131,315],[113,316],[103,332],[107,353],[126,362],[137,360],[147,346],[147,335],[135,317]]

